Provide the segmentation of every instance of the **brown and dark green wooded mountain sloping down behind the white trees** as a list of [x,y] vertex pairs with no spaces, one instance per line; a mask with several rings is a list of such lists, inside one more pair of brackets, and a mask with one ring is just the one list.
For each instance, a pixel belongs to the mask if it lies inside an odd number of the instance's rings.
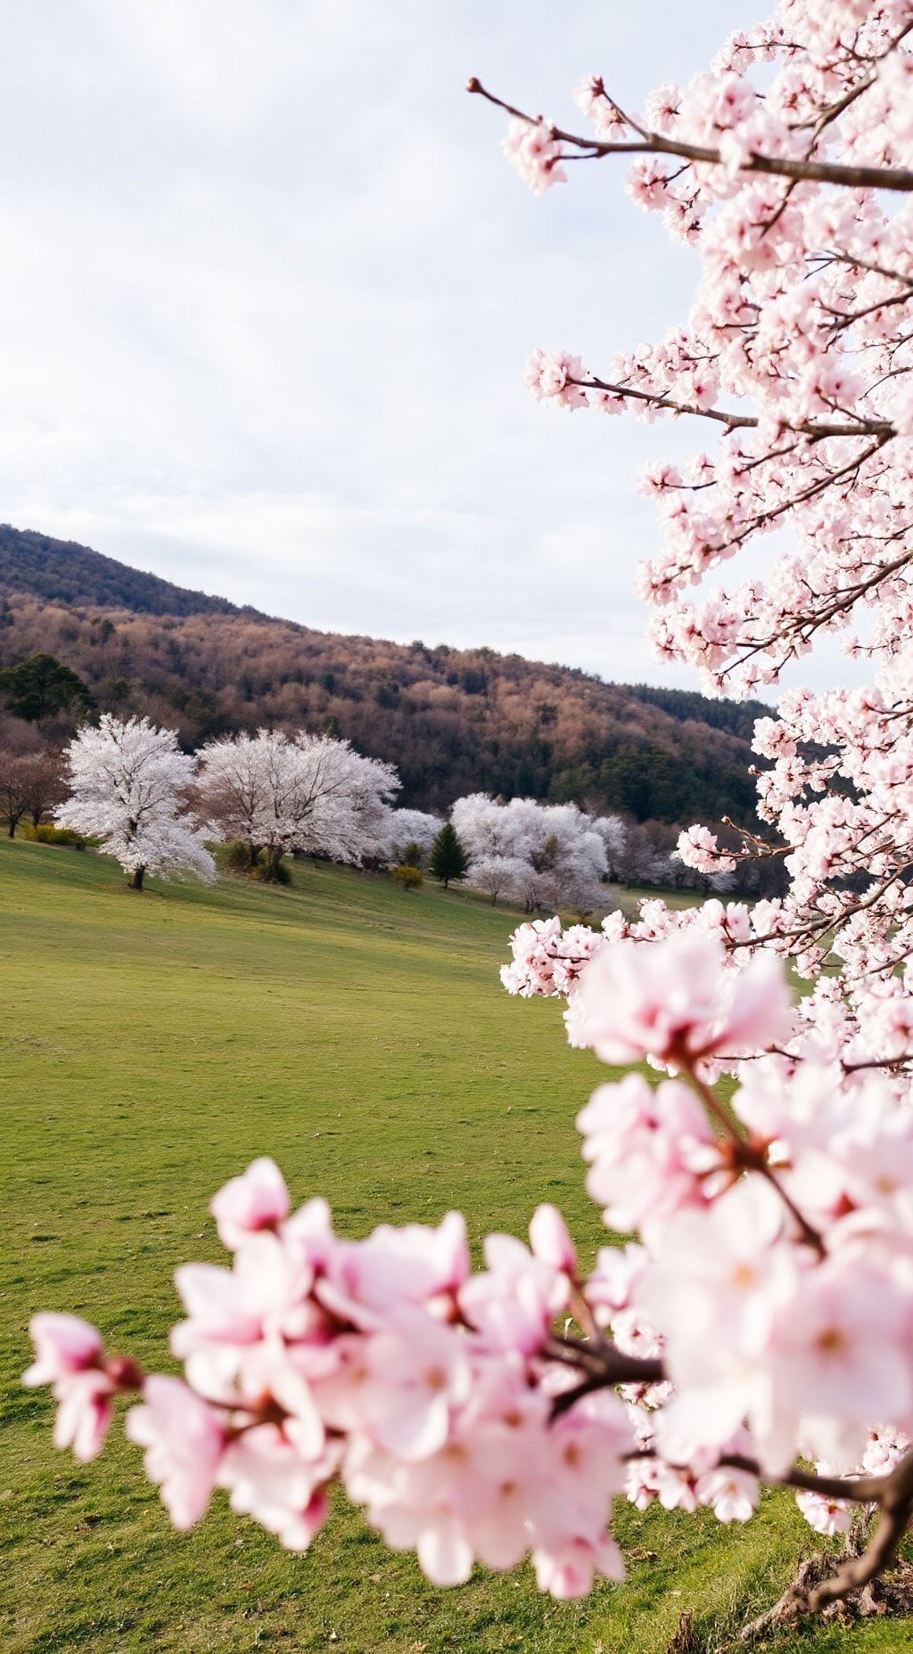
[[589,801],[637,820],[749,820],[756,705],[604,683],[490,648],[316,632],[0,528],[0,668],[45,650],[99,708],[189,746],[258,724],[347,736],[392,759],[402,802],[465,792]]

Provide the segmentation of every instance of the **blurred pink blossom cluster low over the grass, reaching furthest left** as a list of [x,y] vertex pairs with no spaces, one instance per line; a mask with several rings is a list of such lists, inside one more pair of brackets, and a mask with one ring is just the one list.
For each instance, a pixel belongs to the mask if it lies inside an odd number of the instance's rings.
[[620,1576],[607,1522],[632,1431],[610,1393],[554,1416],[567,1376],[546,1346],[576,1259],[552,1207],[536,1212],[531,1247],[490,1236],[475,1275],[458,1214],[346,1240],[324,1201],[289,1214],[270,1159],[212,1211],[233,1262],[177,1272],[184,1379],[108,1360],[74,1317],[35,1317],[26,1383],[53,1384],[58,1446],[93,1457],[114,1394],[139,1389],[126,1432],[179,1528],[222,1487],[304,1550],[339,1477],[437,1585],[466,1580],[473,1560],[509,1568],[528,1553],[554,1596]]

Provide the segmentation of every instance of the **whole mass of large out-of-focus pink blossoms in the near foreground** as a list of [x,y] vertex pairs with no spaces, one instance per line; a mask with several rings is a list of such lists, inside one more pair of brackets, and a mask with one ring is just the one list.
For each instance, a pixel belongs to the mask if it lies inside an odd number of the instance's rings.
[[[622,1576],[615,1494],[746,1520],[759,1477],[789,1480],[797,1456],[850,1475],[900,1459],[913,1115],[880,1077],[777,1055],[746,1065],[726,1113],[703,1064],[741,1040],[772,1047],[787,1007],[776,959],[723,997],[719,981],[708,935],[617,943],[584,973],[577,1017],[597,1054],[624,1045],[681,1073],[605,1083],[579,1116],[587,1189],[638,1237],[589,1277],[552,1206],[529,1245],[488,1236],[473,1274],[458,1214],[349,1240],[323,1199],[291,1212],[258,1159],[212,1204],[232,1267],[177,1270],[182,1379],[106,1356],[74,1317],[35,1317],[25,1381],[53,1386],[58,1446],[93,1457],[114,1398],[139,1391],[126,1432],[179,1528],[222,1487],[304,1550],[339,1479],[435,1583],[531,1555],[559,1598]],[[825,1503],[805,1500],[814,1525],[842,1520]]]

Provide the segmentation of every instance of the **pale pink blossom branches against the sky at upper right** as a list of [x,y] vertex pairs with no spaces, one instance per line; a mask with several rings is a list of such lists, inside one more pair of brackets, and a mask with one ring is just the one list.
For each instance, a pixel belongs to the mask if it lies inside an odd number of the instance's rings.
[[[640,141],[629,194],[695,243],[701,281],[665,339],[617,352],[599,374],[536,351],[526,379],[566,409],[715,422],[715,450],[643,473],[663,549],[638,577],[662,609],[660,658],[696,667],[711,690],[776,681],[819,630],[857,615],[870,619],[865,648],[896,652],[913,637],[913,205],[835,192],[814,170],[910,167],[911,15],[910,0],[824,15],[781,0],[771,23],[733,35],[686,88],[658,88],[643,114],[624,114],[599,76],[576,94],[595,146]],[[758,157],[799,174],[759,170]],[[683,600],[787,514],[792,534],[766,581]]]

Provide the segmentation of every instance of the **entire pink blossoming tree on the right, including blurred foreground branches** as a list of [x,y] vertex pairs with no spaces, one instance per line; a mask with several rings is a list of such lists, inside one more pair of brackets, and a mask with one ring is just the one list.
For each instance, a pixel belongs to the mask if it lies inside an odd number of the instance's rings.
[[[179,1527],[222,1485],[304,1548],[341,1479],[437,1583],[529,1553],[561,1598],[620,1576],[617,1494],[731,1522],[769,1482],[819,1532],[875,1517],[779,1614],[825,1608],[896,1553],[913,1515],[911,33],[913,0],[781,0],[642,114],[600,79],[577,94],[584,134],[503,104],[536,192],[572,157],[633,155],[633,198],[701,255],[668,339],[600,372],[538,352],[528,374],[557,407],[715,437],[645,478],[660,652],[748,691],[844,630],[875,683],[789,693],[758,726],[772,830],[734,857],[784,857],[782,900],[648,901],[633,923],[514,936],[511,991],[564,996],[576,1044],[663,1075],[600,1087],[577,1121],[627,1247],[587,1274],[541,1206],[529,1245],[490,1236],[473,1274],[458,1216],[344,1240],[321,1199],[291,1214],[256,1161],[213,1201],[232,1267],[179,1270],[184,1379],[36,1317],[28,1381],[56,1391],[58,1442],[91,1457],[114,1396],[139,1393],[127,1434]],[[766,579],[685,600],[779,526]],[[733,860],[705,829],[680,852]],[[786,961],[809,982],[797,1007]]]

